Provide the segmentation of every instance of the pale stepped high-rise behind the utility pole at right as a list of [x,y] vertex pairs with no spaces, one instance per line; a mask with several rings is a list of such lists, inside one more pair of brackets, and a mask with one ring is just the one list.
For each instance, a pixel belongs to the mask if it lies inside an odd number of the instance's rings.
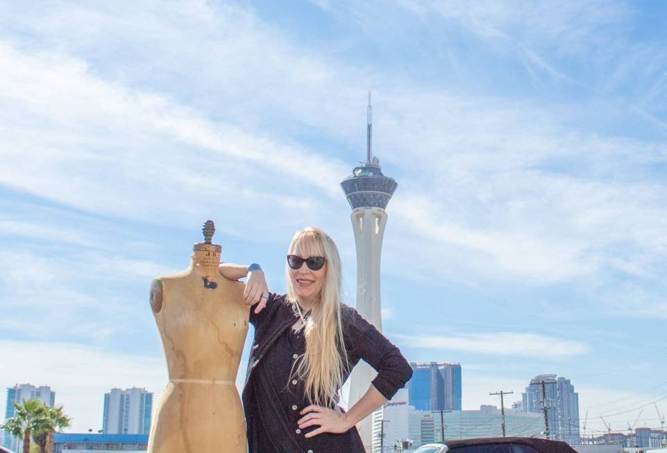
[[544,430],[548,429],[549,438],[572,445],[580,443],[579,394],[570,379],[556,374],[539,374],[530,379],[530,385],[521,396],[524,412],[544,413],[546,409]]

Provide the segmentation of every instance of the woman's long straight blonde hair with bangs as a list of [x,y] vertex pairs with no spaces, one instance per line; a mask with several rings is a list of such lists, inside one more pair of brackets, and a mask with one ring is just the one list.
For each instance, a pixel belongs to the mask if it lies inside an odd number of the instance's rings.
[[[305,395],[311,404],[336,404],[348,365],[341,325],[341,261],[335,242],[318,228],[298,231],[289,244],[288,254],[303,257],[324,256],[326,277],[319,301],[305,324],[305,354],[298,361],[296,374],[305,380]],[[287,298],[296,304],[296,289],[285,266]]]

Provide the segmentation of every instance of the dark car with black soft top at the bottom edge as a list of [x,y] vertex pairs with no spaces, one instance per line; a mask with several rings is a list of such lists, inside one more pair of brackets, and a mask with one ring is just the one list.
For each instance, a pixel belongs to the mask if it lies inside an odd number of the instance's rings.
[[577,453],[560,440],[534,437],[484,437],[430,443],[414,453]]

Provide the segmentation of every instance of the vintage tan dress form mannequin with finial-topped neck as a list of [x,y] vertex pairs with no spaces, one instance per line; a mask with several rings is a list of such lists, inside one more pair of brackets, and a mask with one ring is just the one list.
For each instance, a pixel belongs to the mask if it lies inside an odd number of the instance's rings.
[[149,453],[246,453],[246,425],[235,385],[248,332],[244,284],[218,271],[221,247],[194,245],[184,272],[151,283],[151,307],[167,356],[169,384],[151,429]]

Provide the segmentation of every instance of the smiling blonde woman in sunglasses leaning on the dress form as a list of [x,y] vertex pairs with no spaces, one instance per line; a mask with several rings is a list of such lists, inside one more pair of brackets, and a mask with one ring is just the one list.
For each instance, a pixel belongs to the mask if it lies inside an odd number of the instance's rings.
[[[340,302],[340,258],[326,233],[296,233],[286,270],[287,295],[276,295],[267,291],[257,264],[220,269],[229,279],[248,276],[244,297],[254,305],[255,340],[243,391],[248,449],[364,452],[355,424],[391,399],[412,368],[398,347]],[[360,359],[378,376],[345,413],[337,406],[339,390]]]

